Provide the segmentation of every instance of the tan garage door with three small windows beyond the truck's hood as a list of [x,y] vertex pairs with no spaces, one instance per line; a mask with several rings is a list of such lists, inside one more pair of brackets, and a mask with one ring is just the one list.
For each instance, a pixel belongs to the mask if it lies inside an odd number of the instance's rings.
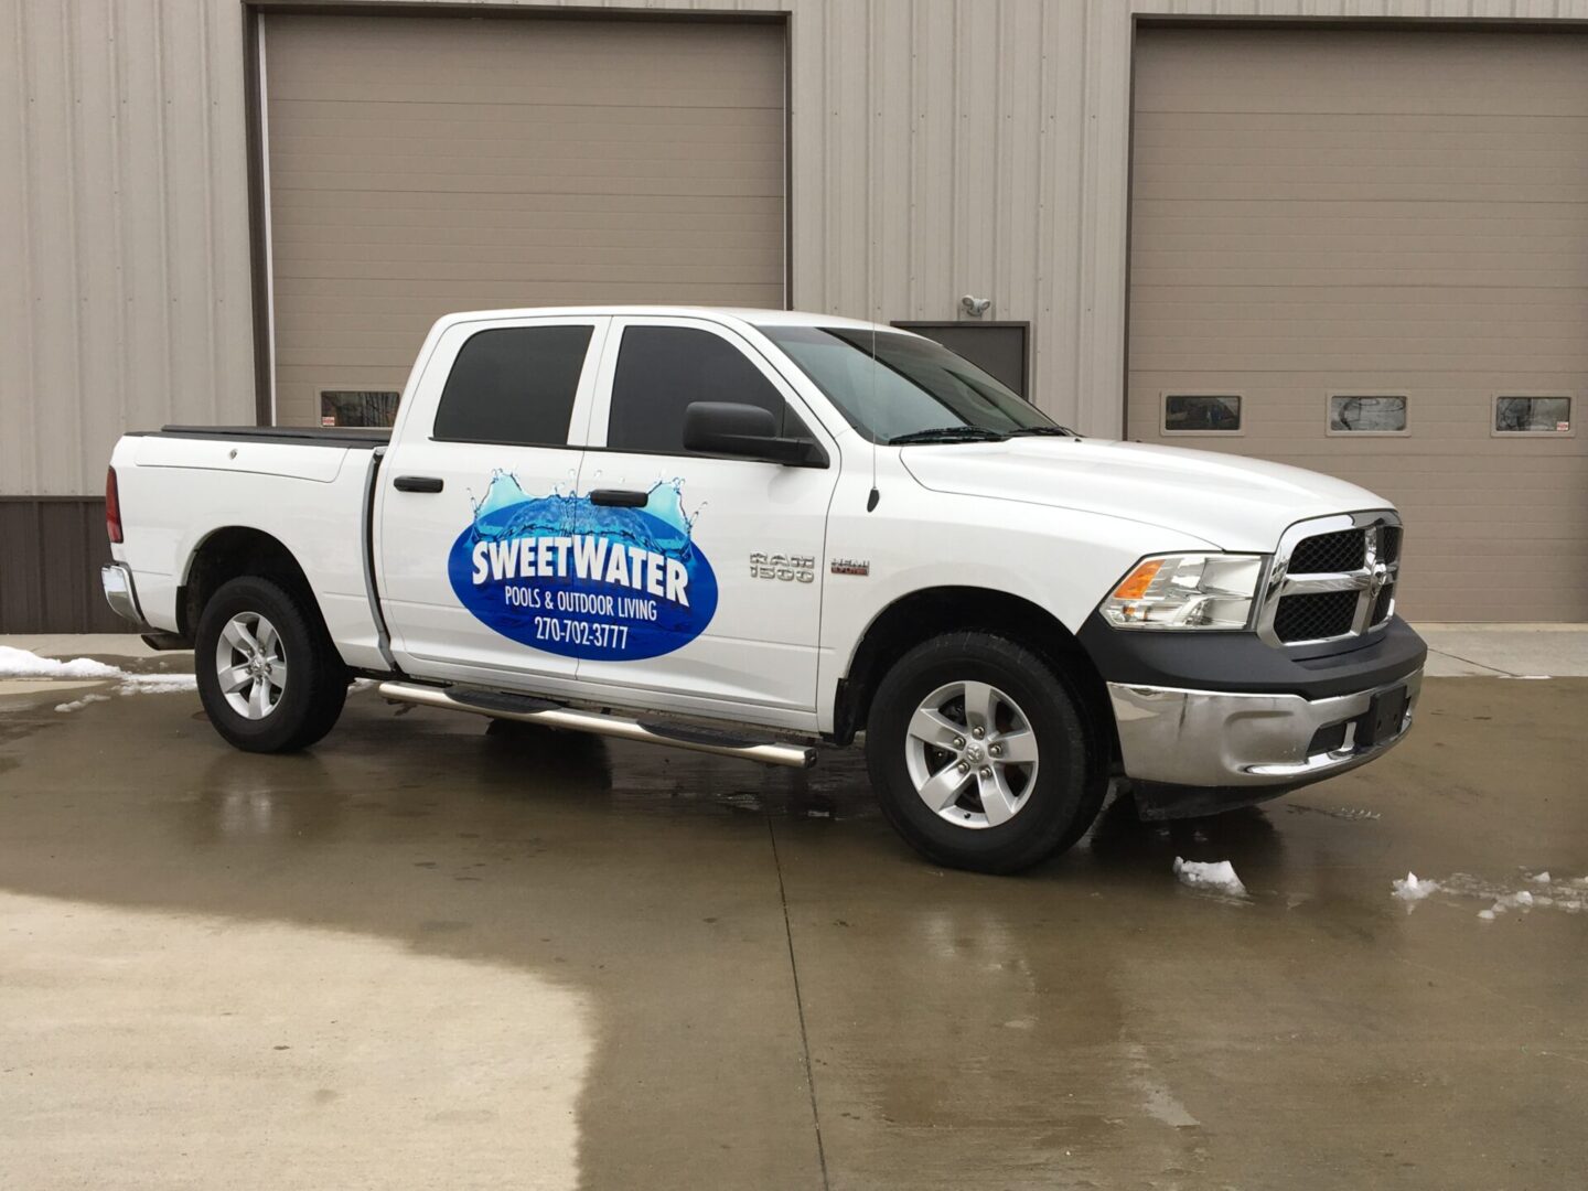
[[1394,500],[1415,619],[1588,619],[1588,38],[1143,29],[1131,219],[1131,438]]

